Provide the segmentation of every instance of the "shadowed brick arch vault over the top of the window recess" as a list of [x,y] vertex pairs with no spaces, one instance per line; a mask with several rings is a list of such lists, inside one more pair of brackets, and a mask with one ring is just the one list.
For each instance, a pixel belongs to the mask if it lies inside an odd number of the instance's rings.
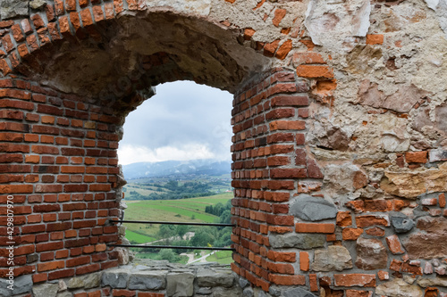
[[[120,88],[126,76],[132,80],[137,76],[143,80],[140,85],[146,86],[190,79],[234,93],[255,72],[268,69],[269,58],[283,60],[291,51],[291,40],[284,40],[281,47],[279,40],[272,45],[254,42],[254,30],[230,29],[226,21],[165,7],[149,8],[131,0],[55,1],[45,8],[45,13],[31,14],[30,18],[2,21],[0,28],[5,32],[0,72],[4,77],[19,74],[43,81],[64,93],[97,97],[107,88]],[[150,33],[129,36],[143,29]],[[171,39],[187,37],[169,42],[166,35]],[[251,46],[247,46],[248,41]],[[181,42],[190,45],[181,47]],[[107,67],[114,63],[123,64],[125,69]],[[163,70],[157,70],[163,64]],[[193,69],[193,64],[198,68]],[[148,68],[150,78],[142,78]],[[91,80],[103,84],[93,86]],[[125,87],[121,88],[115,97],[122,97]],[[134,90],[125,90],[125,95]]]

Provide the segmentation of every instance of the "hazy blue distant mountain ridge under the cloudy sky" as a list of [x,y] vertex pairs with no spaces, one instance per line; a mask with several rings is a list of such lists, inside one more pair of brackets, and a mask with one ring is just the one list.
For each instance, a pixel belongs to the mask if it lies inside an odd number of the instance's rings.
[[211,159],[191,161],[139,162],[122,166],[124,178],[167,177],[179,175],[220,176],[232,172],[230,161]]

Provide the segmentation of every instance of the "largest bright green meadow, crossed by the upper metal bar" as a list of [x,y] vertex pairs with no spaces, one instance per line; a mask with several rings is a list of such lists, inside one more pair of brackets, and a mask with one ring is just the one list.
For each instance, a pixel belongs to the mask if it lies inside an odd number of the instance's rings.
[[[128,208],[124,219],[213,223],[218,217],[205,212],[205,208],[218,202],[225,204],[232,197],[232,193],[224,193],[178,200],[126,201]],[[146,239],[148,242],[160,239],[157,235],[159,225],[126,223],[124,226],[127,227],[126,238],[131,242],[145,243]]]

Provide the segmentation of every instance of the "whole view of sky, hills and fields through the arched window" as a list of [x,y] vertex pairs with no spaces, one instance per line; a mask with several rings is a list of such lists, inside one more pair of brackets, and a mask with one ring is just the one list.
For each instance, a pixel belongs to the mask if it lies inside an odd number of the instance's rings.
[[[232,95],[190,81],[156,87],[132,111],[118,151],[126,220],[230,223]],[[232,262],[231,227],[125,223],[131,244],[190,246],[189,250],[132,248],[137,259]]]

